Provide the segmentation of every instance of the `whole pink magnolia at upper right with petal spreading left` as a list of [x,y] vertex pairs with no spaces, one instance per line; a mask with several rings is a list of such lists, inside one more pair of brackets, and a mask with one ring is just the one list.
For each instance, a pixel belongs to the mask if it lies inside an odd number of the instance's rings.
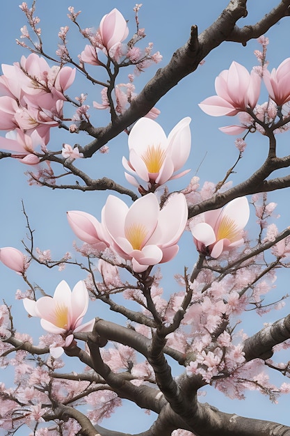
[[260,87],[261,77],[255,71],[249,74],[243,65],[232,62],[229,70],[223,70],[216,77],[217,95],[206,98],[199,106],[211,116],[233,116],[255,107]]

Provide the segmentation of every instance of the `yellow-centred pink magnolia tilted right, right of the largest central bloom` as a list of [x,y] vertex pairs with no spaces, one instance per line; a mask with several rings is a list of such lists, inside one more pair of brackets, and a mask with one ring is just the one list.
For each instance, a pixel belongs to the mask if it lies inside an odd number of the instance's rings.
[[246,197],[234,198],[225,208],[202,214],[204,222],[189,224],[200,253],[218,258],[223,251],[243,244],[243,228],[248,223],[250,209]]

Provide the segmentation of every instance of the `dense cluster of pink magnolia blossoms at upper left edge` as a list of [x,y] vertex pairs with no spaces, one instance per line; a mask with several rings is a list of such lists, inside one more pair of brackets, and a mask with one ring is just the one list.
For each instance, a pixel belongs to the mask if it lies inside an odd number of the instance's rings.
[[75,69],[54,65],[35,53],[20,63],[2,65],[0,76],[0,147],[16,152],[26,164],[40,161],[40,150],[46,150],[51,127],[63,118],[65,91],[74,81]]

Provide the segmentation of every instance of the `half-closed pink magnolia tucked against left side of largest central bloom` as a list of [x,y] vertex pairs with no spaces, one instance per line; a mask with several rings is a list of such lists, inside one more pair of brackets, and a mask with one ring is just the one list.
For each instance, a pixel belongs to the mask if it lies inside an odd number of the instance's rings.
[[106,249],[109,246],[111,238],[106,228],[87,212],[81,210],[70,210],[67,212],[67,220],[76,236],[92,245],[97,249]]

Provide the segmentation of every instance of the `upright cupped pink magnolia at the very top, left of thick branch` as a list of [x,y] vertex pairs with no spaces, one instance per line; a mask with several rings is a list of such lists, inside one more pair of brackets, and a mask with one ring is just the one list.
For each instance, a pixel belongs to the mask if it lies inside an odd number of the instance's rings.
[[114,45],[127,38],[129,29],[123,15],[116,8],[104,15],[99,24],[102,45],[109,51]]

